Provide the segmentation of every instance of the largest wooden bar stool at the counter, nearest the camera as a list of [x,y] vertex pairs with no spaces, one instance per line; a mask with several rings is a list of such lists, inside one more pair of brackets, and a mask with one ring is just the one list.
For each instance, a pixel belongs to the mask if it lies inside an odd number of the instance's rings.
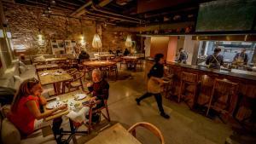
[[[238,84],[236,83],[232,83],[226,79],[216,78],[214,80],[210,102],[208,103],[207,116],[210,109],[212,109],[220,114],[232,117],[238,100],[237,88]],[[223,120],[222,118],[220,119]]]

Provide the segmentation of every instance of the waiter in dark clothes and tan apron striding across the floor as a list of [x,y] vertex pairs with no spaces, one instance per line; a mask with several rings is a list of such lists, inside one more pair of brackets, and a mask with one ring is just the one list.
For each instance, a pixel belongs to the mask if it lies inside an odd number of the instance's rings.
[[157,106],[160,110],[160,115],[164,118],[170,118],[169,115],[166,114],[164,111],[163,105],[162,105],[162,96],[160,94],[160,86],[164,83],[163,76],[164,76],[164,55],[157,54],[154,56],[154,66],[151,68],[151,70],[148,72],[148,91],[143,96],[136,99],[137,105],[140,105],[140,101],[143,99],[154,95],[154,98],[157,102]]

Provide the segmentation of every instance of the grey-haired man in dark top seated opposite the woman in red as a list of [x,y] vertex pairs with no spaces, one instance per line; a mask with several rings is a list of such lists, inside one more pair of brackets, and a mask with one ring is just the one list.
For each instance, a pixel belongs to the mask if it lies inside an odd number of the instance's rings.
[[94,69],[91,77],[93,83],[87,84],[88,90],[92,94],[90,103],[101,101],[96,104],[96,109],[101,108],[105,105],[104,100],[108,100],[109,84],[104,78],[102,78],[102,72],[99,69]]

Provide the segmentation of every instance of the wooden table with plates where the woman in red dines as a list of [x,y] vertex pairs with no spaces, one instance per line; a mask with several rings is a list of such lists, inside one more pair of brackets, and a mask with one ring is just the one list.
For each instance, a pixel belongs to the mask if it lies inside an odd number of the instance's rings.
[[[70,92],[70,93],[67,93],[67,94],[55,96],[53,98],[50,98],[49,100],[55,99],[56,97],[59,97],[60,101],[63,101],[64,103],[67,103],[67,101],[71,101],[73,103],[73,105],[79,104],[79,107],[76,107],[77,109],[80,109],[80,108],[83,107],[82,103],[84,101],[89,101],[90,100],[90,95],[89,95],[89,96],[86,96],[83,100],[75,101],[75,100],[73,100],[73,97],[74,97],[75,94],[84,94],[84,92],[82,90],[76,90],[76,91],[73,91],[73,92]],[[56,114],[51,115],[51,116],[45,118],[45,120],[49,121],[49,120],[52,120],[54,118],[60,118],[63,115],[67,115],[67,113],[71,111],[70,107],[71,106],[68,105],[68,110],[66,110],[64,112],[57,112]],[[44,107],[44,112],[47,112],[47,111],[49,111],[49,110]]]

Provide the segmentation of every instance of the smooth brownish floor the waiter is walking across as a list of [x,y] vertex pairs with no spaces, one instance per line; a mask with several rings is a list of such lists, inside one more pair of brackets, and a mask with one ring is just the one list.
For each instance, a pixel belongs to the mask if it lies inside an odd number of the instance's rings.
[[[154,97],[137,106],[135,98],[146,90],[144,75],[143,72],[128,73],[131,73],[131,77],[125,80],[109,81],[108,107],[113,121],[123,124],[127,129],[141,121],[154,124],[164,135],[166,144],[223,144],[226,137],[231,135],[227,124],[192,112],[183,103],[164,99],[164,108],[171,115],[170,119],[160,117]],[[137,138],[145,144],[160,143],[154,135],[143,129],[139,129]]]

